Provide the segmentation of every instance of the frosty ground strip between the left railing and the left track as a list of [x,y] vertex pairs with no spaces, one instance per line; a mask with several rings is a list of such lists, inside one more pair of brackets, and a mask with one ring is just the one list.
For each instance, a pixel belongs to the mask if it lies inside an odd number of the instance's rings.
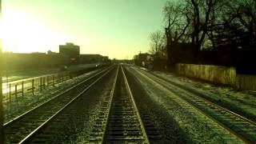
[[9,122],[11,119],[18,117],[20,114],[24,114],[26,111],[33,109],[34,107],[46,102],[50,98],[56,96],[56,94],[61,93],[63,90],[66,90],[71,85],[77,82],[81,82],[83,79],[88,78],[91,74],[95,74],[99,70],[94,70],[86,74],[82,74],[79,77],[67,80],[56,84],[55,86],[50,86],[45,90],[38,91],[35,94],[24,94],[24,97],[21,96],[17,99],[14,99],[12,102],[4,102],[4,115],[5,122]]

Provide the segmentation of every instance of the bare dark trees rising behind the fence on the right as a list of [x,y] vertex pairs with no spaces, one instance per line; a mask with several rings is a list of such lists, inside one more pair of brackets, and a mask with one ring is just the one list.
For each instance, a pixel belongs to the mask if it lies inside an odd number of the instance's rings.
[[164,29],[150,34],[150,53],[155,59],[166,58],[170,68],[181,43],[190,47],[190,63],[202,61],[202,50],[256,50],[255,0],[168,1],[162,14]]

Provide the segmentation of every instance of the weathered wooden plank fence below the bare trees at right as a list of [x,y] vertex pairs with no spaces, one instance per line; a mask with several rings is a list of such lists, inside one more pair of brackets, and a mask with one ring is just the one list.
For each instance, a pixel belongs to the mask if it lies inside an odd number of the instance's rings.
[[239,90],[256,90],[256,75],[236,74],[234,67],[177,64],[178,74],[208,82],[234,86]]

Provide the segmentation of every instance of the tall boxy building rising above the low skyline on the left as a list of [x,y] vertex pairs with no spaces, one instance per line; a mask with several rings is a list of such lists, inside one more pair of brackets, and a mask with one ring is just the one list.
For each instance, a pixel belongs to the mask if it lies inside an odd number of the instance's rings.
[[65,55],[69,58],[70,64],[79,62],[80,46],[74,43],[66,42],[66,45],[59,46],[59,54]]

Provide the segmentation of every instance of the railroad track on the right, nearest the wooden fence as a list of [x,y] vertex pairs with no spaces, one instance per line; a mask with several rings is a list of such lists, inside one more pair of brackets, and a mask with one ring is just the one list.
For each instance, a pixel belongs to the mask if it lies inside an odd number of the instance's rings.
[[194,107],[200,113],[206,115],[212,121],[216,122],[219,126],[229,131],[236,138],[246,143],[256,142],[256,123],[250,119],[244,118],[230,110],[218,106],[217,104],[208,101],[205,98],[198,96],[188,90],[184,90],[179,86],[166,81],[163,78],[158,78],[154,74],[150,74],[144,70],[137,70],[139,74],[150,82],[161,86],[163,89],[169,90],[175,97],[186,102],[189,106]]

